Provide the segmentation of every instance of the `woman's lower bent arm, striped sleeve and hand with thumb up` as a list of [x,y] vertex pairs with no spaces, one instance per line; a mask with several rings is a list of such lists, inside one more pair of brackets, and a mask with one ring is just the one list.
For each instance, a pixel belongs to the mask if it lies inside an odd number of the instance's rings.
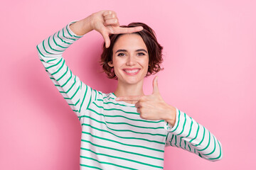
[[157,77],[153,80],[153,93],[149,96],[122,96],[117,101],[137,101],[135,107],[141,118],[164,120],[167,131],[166,146],[180,147],[210,161],[222,159],[220,142],[203,125],[167,104],[159,93]]

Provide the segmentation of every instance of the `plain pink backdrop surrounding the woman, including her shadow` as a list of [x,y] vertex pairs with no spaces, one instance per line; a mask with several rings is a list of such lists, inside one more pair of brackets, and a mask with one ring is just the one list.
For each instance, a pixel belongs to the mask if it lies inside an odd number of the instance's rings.
[[[167,147],[164,169],[256,169],[255,7],[245,0],[2,2],[0,169],[79,169],[80,123],[48,78],[36,45],[102,9],[116,11],[121,25],[154,28],[164,46],[163,98],[223,145],[220,162]],[[64,57],[82,81],[107,93],[116,82],[100,74],[101,45],[93,31]],[[146,94],[153,78],[146,78]]]

